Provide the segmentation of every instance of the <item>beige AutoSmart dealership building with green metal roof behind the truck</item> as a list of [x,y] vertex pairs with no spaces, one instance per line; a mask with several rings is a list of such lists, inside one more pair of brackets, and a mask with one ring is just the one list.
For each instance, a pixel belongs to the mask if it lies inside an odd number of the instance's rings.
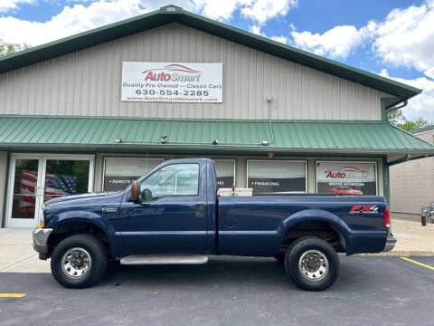
[[253,195],[389,199],[389,166],[434,154],[385,118],[419,93],[174,5],[36,46],[0,60],[1,226],[170,158]]

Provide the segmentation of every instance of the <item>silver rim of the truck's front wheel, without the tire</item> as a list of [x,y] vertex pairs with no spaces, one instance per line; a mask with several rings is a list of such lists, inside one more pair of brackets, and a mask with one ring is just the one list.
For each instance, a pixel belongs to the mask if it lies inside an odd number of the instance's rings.
[[69,249],[61,257],[61,269],[63,273],[71,278],[84,277],[90,270],[92,258],[83,248],[74,247]]

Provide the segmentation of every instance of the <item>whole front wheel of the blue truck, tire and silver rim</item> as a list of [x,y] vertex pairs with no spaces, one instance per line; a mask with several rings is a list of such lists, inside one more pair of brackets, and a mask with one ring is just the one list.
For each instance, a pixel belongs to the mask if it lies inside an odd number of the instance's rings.
[[92,235],[71,235],[52,252],[52,276],[66,288],[87,288],[106,272],[108,256]]

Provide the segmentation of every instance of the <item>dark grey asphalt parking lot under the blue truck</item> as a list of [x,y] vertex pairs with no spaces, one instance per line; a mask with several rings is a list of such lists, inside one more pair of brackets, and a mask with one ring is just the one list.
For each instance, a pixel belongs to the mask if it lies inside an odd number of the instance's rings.
[[434,325],[434,257],[341,257],[325,292],[303,292],[269,258],[111,266],[90,289],[49,273],[0,273],[0,325]]

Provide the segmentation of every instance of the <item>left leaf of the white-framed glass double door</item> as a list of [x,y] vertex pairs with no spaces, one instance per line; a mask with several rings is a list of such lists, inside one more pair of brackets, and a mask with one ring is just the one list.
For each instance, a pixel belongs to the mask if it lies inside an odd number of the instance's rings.
[[40,214],[42,157],[13,156],[8,194],[8,227],[32,227]]

